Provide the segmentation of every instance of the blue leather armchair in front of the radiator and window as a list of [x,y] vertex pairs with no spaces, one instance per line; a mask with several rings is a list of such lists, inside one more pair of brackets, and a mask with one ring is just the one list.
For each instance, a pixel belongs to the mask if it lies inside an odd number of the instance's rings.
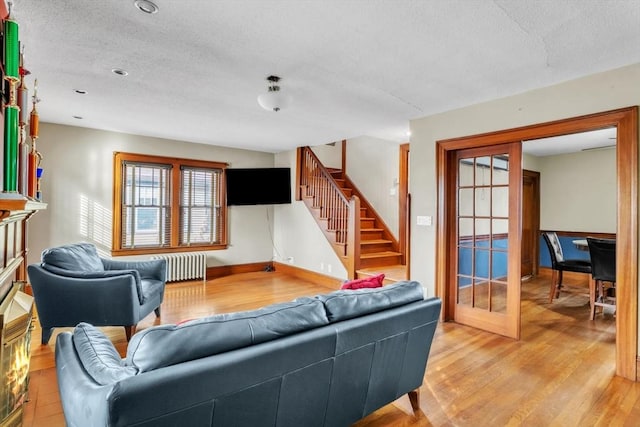
[[151,311],[160,317],[167,267],[165,260],[117,261],[101,258],[91,243],[42,252],[42,262],[27,267],[42,344],[56,327],[80,322],[124,326],[127,341]]

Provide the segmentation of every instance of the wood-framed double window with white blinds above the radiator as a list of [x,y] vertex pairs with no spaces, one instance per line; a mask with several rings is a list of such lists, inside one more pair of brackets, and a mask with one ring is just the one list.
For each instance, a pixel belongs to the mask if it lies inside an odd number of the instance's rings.
[[113,254],[226,248],[225,168],[115,153]]

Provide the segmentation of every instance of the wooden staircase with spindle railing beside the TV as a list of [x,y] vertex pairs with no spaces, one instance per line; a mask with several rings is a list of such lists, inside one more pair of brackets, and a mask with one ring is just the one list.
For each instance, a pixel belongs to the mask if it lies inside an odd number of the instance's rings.
[[325,168],[308,147],[300,151],[300,199],[316,219],[349,277],[363,277],[402,265],[404,256],[398,251],[398,242],[343,171]]

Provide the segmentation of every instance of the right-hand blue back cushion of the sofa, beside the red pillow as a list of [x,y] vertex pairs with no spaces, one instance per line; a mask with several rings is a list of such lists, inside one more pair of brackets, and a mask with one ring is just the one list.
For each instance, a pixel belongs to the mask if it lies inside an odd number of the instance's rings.
[[330,322],[352,319],[424,299],[422,285],[402,281],[381,288],[340,290],[316,298],[324,303]]

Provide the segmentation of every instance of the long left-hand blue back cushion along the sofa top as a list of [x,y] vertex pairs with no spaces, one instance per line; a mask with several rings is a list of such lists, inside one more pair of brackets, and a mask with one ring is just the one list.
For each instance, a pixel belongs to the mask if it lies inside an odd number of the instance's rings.
[[298,298],[253,311],[218,314],[136,333],[125,364],[141,372],[274,340],[329,323],[324,305]]

